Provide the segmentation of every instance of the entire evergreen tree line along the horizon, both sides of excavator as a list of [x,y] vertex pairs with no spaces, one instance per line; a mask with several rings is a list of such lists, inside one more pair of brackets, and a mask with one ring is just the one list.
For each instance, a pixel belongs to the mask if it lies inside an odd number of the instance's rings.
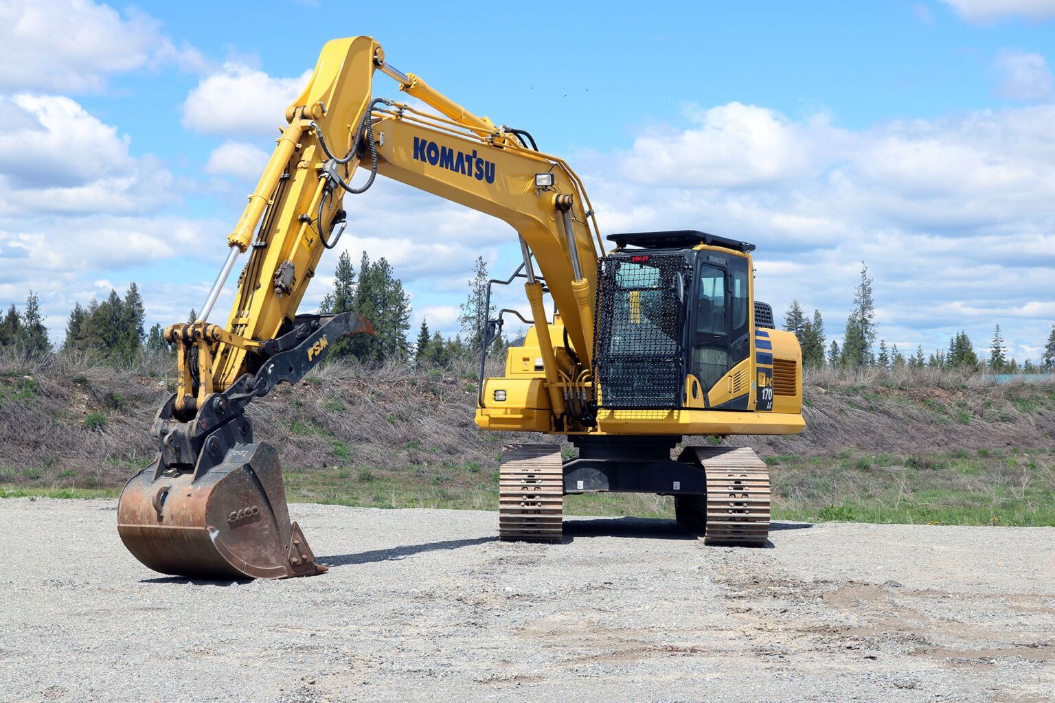
[[[335,314],[356,312],[373,325],[375,334],[357,334],[333,344],[330,355],[354,357],[364,362],[383,362],[389,358],[414,357],[423,367],[443,367],[459,359],[479,358],[480,347],[487,319],[494,317],[495,306],[486,300],[487,266],[477,257],[473,277],[467,281],[468,292],[461,305],[458,323],[460,332],[445,338],[428,327],[423,319],[417,338],[407,338],[410,329],[410,300],[402,282],[392,274],[391,266],[383,257],[371,261],[364,252],[357,272],[351,257],[343,252],[334,271],[333,288],[323,298],[320,312]],[[989,357],[980,358],[966,332],[954,334],[945,349],[929,355],[922,345],[915,352],[905,353],[897,345],[879,339],[868,267],[862,261],[861,278],[853,293],[853,308],[846,319],[843,345],[825,337],[824,319],[820,310],[807,315],[799,300],[792,300],[784,314],[783,329],[794,333],[802,347],[803,364],[808,367],[845,367],[880,369],[898,368],[951,368],[987,370],[992,373],[1055,372],[1055,325],[1039,363],[1027,360],[1019,365],[1008,354],[1000,326],[997,325],[990,343]],[[192,310],[189,321],[196,317]],[[87,307],[77,302],[66,320],[64,352],[83,352],[112,362],[130,362],[139,354],[164,353],[169,350],[160,325],[143,329],[146,312],[139,289],[133,281],[124,296],[110,291],[101,302],[93,299]],[[501,353],[507,343],[499,334],[491,340],[490,349]],[[27,356],[54,351],[40,313],[37,294],[30,292],[23,310],[12,305],[0,318],[0,347],[15,349]]]

